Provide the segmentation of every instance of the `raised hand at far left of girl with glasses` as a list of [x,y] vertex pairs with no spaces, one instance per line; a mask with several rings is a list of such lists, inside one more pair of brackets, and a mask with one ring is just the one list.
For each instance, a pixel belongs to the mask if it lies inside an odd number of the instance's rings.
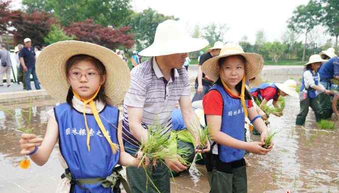
[[34,151],[35,147],[40,146],[43,138],[37,137],[34,134],[23,133],[19,140],[21,147],[21,155],[27,155]]

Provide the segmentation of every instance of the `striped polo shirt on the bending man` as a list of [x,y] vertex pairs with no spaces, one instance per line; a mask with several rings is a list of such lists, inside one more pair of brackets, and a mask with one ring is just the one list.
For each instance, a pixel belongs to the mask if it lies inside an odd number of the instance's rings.
[[129,128],[127,106],[143,108],[142,126],[160,126],[163,133],[172,127],[171,112],[181,96],[190,96],[188,74],[184,67],[172,69],[169,81],[164,78],[155,57],[131,71],[131,86],[124,99],[123,139],[135,147],[138,140]]

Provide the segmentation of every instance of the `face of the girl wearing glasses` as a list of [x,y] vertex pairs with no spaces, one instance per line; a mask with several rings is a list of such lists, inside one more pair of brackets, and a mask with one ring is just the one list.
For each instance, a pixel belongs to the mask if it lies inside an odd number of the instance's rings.
[[106,76],[100,75],[100,71],[89,61],[73,64],[68,72],[69,84],[84,99],[91,98],[105,80]]

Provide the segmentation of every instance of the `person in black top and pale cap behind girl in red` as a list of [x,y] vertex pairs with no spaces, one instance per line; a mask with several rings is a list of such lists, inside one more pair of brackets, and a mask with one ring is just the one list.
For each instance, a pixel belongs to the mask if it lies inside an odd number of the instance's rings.
[[192,98],[192,102],[196,100],[202,100],[202,97],[207,93],[207,91],[212,87],[213,81],[206,76],[201,71],[201,65],[207,61],[208,59],[218,56],[220,53],[220,49],[223,47],[223,43],[221,41],[217,41],[214,43],[213,47],[209,48],[206,53],[202,54],[199,58],[198,65],[198,76],[195,79],[195,95]]

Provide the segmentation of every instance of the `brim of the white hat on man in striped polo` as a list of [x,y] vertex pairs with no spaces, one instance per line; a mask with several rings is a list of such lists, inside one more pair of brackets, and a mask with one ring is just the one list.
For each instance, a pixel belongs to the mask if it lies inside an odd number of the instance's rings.
[[186,38],[184,41],[167,41],[153,43],[140,51],[140,56],[166,56],[170,54],[188,53],[200,50],[208,45],[208,41],[198,38]]

